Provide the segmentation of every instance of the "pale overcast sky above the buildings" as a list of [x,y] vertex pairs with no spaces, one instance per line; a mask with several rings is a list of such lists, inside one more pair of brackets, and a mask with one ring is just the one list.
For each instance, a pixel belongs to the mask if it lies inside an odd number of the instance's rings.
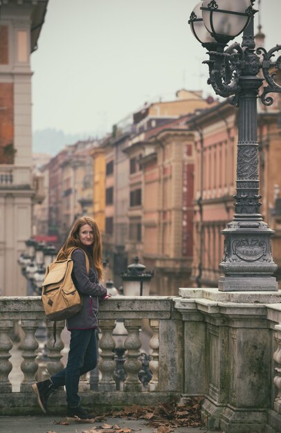
[[[197,2],[49,0],[31,56],[33,131],[101,135],[144,102],[172,100],[183,87],[215,96],[201,64],[206,50],[188,25]],[[281,0],[261,0],[260,11],[266,48],[281,44]]]

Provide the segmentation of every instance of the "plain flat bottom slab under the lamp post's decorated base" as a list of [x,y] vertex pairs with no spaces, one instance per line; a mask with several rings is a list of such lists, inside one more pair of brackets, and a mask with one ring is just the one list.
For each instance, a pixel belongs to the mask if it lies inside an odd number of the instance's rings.
[[219,277],[221,292],[277,292],[278,282],[275,277]]

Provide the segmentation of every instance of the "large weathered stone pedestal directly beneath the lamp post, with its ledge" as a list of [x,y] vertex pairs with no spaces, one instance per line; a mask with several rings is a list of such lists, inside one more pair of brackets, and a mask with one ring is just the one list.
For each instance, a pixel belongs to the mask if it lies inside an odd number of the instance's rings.
[[[280,303],[281,293],[221,293],[216,288],[206,288],[181,289],[181,295],[189,298],[177,304],[181,313],[186,308],[183,318],[192,317],[193,303],[197,314],[201,312],[206,322],[208,387],[201,411],[206,427],[225,433],[263,433],[273,386],[271,329],[266,304]],[[186,335],[191,340],[192,335],[185,334],[188,347],[190,340]],[[201,338],[203,342],[202,334]],[[185,372],[185,376],[190,373],[190,370]],[[199,375],[196,376],[195,367],[194,374],[196,380]]]

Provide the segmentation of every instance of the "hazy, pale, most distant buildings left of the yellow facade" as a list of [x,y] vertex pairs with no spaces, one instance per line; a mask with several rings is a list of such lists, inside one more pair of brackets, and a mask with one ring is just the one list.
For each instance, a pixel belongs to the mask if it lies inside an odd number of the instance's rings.
[[93,216],[93,162],[95,140],[66,146],[39,168],[46,198],[35,208],[34,236],[52,237],[59,248],[78,216]]

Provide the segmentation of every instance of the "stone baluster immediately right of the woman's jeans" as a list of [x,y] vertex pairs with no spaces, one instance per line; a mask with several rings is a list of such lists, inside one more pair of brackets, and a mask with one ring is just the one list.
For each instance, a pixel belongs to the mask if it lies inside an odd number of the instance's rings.
[[100,353],[100,371],[102,378],[100,379],[100,391],[115,391],[116,384],[113,379],[114,370],[116,369],[116,362],[114,360],[114,349],[116,342],[112,338],[112,332],[116,326],[114,319],[100,320],[100,330],[102,331],[102,338],[100,338],[99,347],[102,349]]

